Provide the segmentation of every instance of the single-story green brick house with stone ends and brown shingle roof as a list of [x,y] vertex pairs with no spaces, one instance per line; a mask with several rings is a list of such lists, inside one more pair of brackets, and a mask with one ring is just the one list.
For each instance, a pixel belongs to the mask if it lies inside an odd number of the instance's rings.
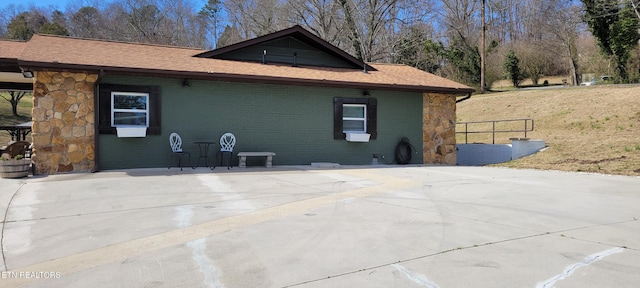
[[231,132],[235,152],[275,152],[274,165],[391,162],[404,137],[417,150],[410,163],[455,165],[456,99],[473,92],[363,63],[300,26],[211,51],[34,35],[0,41],[2,67],[33,74],[42,174],[166,167],[172,132],[194,161],[194,142]]

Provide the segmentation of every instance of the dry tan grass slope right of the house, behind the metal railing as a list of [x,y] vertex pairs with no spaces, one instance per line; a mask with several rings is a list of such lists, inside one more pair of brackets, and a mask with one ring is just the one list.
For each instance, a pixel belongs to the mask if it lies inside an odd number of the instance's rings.
[[[545,140],[549,149],[498,166],[640,176],[640,86],[517,90],[476,95],[457,106],[458,121],[535,120],[527,137]],[[491,135],[473,137],[470,143],[492,141]],[[497,134],[496,143],[509,137],[523,133]],[[464,143],[461,135],[457,140]]]

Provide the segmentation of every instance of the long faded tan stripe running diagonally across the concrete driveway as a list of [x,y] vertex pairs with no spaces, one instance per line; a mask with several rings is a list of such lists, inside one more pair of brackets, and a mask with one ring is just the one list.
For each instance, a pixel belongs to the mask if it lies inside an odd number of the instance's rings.
[[[113,262],[124,261],[131,256],[140,255],[146,252],[182,245],[192,240],[207,238],[211,235],[224,233],[230,230],[267,222],[292,214],[303,214],[306,211],[334,204],[344,199],[364,198],[410,186],[421,185],[420,183],[410,180],[376,174],[367,170],[349,170],[342,173],[370,179],[381,184],[345,191],[338,194],[291,202],[276,207],[269,207],[246,214],[176,229],[30,266],[11,269],[10,272],[56,271],[60,272],[61,275],[71,274]],[[27,283],[33,284],[36,281],[41,281],[42,279],[13,278],[4,280],[3,285],[6,284],[8,287],[18,287],[18,285],[24,285]]]

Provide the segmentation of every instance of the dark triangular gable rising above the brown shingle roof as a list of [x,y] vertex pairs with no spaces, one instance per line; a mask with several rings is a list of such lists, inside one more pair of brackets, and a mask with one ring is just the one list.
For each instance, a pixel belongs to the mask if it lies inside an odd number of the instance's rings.
[[263,64],[375,70],[299,25],[201,53],[196,57]]

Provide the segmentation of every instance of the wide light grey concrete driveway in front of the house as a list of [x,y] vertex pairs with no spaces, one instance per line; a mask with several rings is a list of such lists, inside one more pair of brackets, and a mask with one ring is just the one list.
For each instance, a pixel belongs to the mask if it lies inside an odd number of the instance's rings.
[[639,177],[296,166],[0,184],[0,287],[640,283]]

